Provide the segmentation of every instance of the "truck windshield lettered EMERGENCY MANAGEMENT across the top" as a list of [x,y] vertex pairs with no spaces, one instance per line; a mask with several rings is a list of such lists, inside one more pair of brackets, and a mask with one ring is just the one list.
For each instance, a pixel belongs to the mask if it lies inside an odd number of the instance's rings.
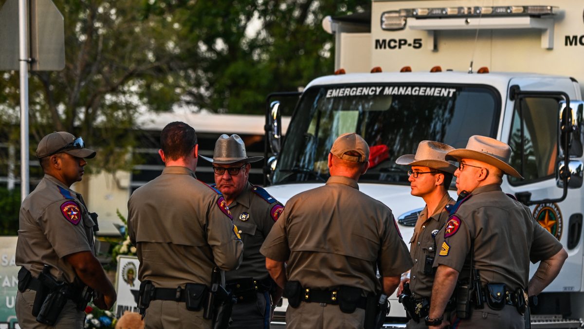
[[496,136],[500,95],[486,85],[352,84],[306,90],[276,163],[274,184],[326,181],[335,139],[356,132],[369,143],[360,182],[409,184],[395,164],[422,140],[464,148],[472,135]]

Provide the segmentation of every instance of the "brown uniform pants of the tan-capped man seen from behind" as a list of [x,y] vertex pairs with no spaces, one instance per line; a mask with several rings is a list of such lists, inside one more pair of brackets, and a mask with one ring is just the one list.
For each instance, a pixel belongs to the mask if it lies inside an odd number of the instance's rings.
[[338,305],[300,303],[297,309],[288,306],[286,310],[287,329],[362,329],[365,310],[343,313]]

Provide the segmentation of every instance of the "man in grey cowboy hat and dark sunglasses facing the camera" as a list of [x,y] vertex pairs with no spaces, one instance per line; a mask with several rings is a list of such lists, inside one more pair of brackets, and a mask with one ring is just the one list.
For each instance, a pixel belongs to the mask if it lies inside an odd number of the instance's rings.
[[230,328],[269,328],[281,288],[267,273],[266,258],[259,248],[284,207],[266,190],[249,183],[250,163],[263,156],[248,157],[238,135],[221,135],[215,143],[213,159],[201,157],[213,163],[214,187],[223,194],[244,242],[241,266],[225,273],[227,287],[237,297]]

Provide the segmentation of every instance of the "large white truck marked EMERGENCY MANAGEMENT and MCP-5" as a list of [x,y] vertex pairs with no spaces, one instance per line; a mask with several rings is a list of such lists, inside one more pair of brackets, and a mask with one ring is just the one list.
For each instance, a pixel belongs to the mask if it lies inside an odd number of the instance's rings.
[[[503,190],[530,205],[569,254],[532,308],[532,327],[584,327],[583,13],[584,2],[570,0],[373,0],[370,12],[325,18],[336,73],[268,97],[267,190],[286,203],[321,186],[333,141],[357,132],[371,146],[360,190],[392,209],[407,243],[424,204],[395,159],[421,140],[454,148],[471,135],[502,140],[524,177],[506,177]],[[298,101],[280,143],[280,100],[290,96]],[[388,320],[404,318],[391,296]]]

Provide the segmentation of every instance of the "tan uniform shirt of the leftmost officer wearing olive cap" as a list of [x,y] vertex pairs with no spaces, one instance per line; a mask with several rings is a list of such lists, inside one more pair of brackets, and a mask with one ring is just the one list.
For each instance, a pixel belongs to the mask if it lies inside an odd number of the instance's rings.
[[95,224],[79,196],[55,177],[44,175],[20,206],[16,265],[34,277],[43,265],[50,265],[57,280],[74,282],[75,270],[64,257],[82,251],[95,255]]

